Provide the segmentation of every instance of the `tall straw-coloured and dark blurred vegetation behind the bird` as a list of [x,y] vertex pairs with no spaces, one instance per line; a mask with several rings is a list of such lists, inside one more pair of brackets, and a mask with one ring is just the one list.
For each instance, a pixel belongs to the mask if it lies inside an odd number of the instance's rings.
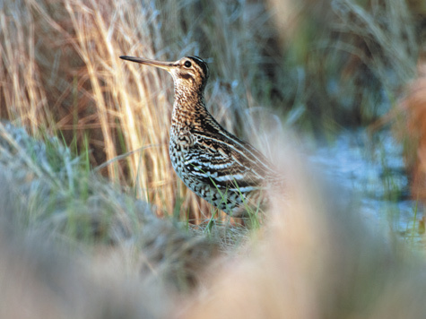
[[260,147],[259,117],[328,136],[396,120],[425,25],[422,0],[3,0],[0,117],[59,136],[157,214],[197,222],[210,208],[168,155],[171,77],[118,56],[203,57],[207,107]]

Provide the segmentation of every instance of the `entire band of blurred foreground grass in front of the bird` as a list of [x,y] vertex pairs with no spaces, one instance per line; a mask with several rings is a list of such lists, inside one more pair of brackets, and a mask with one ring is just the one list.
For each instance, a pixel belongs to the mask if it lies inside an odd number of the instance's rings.
[[91,172],[75,180],[84,160],[57,139],[47,146],[8,124],[0,133],[2,318],[377,319],[426,311],[424,258],[361,220],[350,197],[322,183],[296,151],[277,161],[291,188],[271,194],[263,228],[239,234],[230,249],[156,218]]

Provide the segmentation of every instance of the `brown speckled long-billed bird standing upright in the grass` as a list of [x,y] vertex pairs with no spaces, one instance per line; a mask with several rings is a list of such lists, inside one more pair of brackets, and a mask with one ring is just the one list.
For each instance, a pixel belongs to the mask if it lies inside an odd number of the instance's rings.
[[185,56],[175,62],[120,58],[155,66],[173,77],[169,153],[184,184],[232,217],[248,217],[254,208],[265,207],[265,185],[276,182],[276,170],[260,151],[230,134],[205,108],[207,63],[198,56]]

